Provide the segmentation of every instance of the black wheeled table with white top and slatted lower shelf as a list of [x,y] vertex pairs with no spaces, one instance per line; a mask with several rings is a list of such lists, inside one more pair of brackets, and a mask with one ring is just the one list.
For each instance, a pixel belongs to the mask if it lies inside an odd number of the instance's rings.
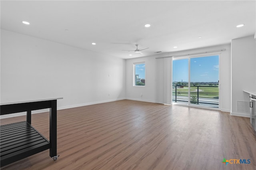
[[[50,149],[57,160],[57,99],[2,103],[0,115],[27,112],[26,121],[0,126],[1,167]],[[50,141],[31,125],[31,111],[50,108]]]

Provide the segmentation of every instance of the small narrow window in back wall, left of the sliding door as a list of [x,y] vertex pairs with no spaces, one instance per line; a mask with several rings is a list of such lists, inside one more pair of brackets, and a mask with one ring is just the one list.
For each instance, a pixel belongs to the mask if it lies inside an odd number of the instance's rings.
[[134,63],[134,86],[145,86],[145,62]]

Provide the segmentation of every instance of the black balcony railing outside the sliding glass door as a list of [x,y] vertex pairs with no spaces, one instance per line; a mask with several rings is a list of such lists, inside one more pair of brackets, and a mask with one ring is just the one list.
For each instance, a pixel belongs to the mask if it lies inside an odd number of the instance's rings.
[[[172,86],[172,101],[177,103],[188,103],[188,85]],[[190,104],[218,107],[218,86],[194,86],[190,85]]]

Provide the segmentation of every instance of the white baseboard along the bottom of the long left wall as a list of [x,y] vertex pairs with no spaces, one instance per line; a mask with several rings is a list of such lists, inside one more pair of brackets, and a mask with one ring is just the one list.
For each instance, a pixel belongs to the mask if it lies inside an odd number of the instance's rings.
[[[74,107],[81,107],[81,106],[87,106],[87,105],[95,105],[95,104],[99,104],[99,103],[107,103],[107,102],[111,102],[111,101],[118,101],[118,100],[124,100],[124,99],[126,99],[126,98],[111,99],[111,100],[97,101],[97,102],[91,102],[91,103],[82,103],[82,104],[78,104],[78,105],[62,106],[62,107],[57,107],[57,110],[70,109],[70,108],[74,108]],[[50,111],[50,109],[41,109],[41,110],[32,111],[31,114],[44,113],[44,112],[49,112],[49,111]],[[12,113],[12,114],[8,114],[8,115],[1,115],[0,119],[6,119],[6,118],[10,118],[10,117],[18,117],[18,116],[24,116],[24,115],[26,115],[26,112]]]

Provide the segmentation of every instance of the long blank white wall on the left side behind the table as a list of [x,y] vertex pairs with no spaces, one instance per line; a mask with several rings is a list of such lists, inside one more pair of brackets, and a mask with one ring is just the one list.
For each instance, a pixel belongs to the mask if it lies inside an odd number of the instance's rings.
[[1,30],[1,103],[64,97],[58,101],[64,109],[124,99],[125,63]]

